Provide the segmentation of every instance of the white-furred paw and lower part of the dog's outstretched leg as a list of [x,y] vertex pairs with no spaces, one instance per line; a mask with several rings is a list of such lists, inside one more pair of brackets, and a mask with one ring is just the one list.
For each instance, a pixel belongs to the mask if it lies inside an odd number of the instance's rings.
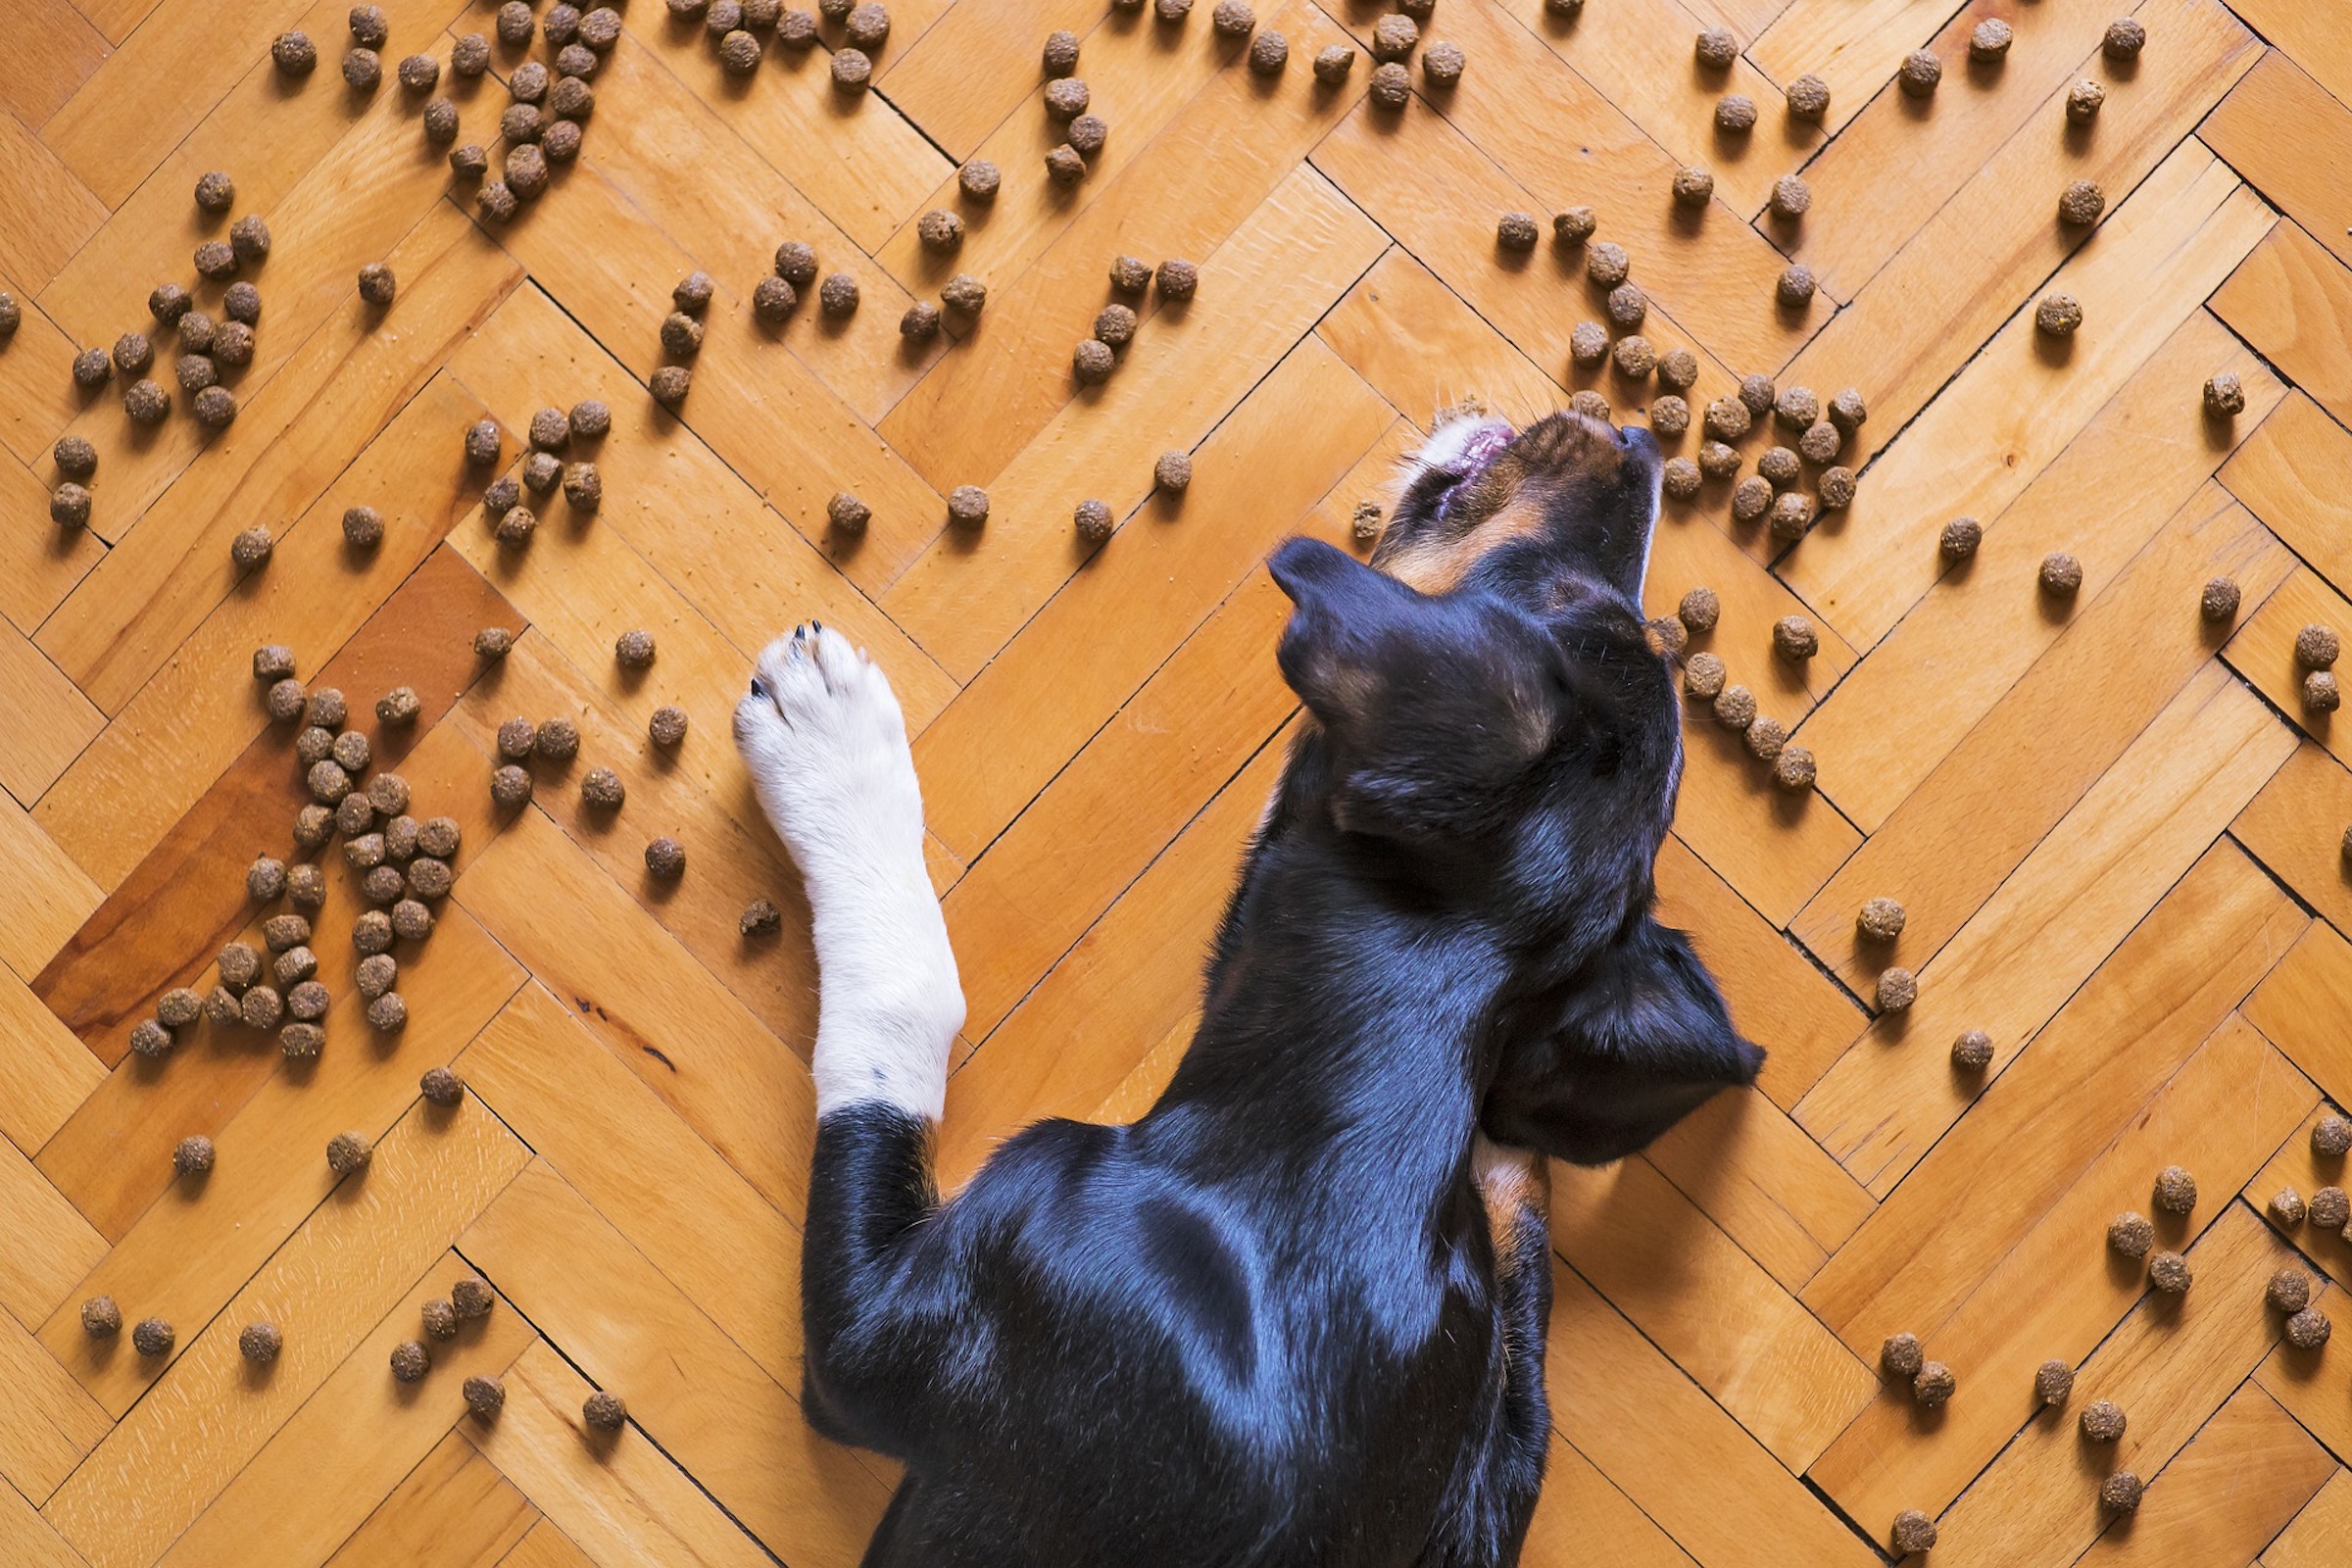
[[816,1114],[887,1100],[938,1121],[964,992],[898,698],[847,637],[804,625],[760,654],[734,733],[816,917]]

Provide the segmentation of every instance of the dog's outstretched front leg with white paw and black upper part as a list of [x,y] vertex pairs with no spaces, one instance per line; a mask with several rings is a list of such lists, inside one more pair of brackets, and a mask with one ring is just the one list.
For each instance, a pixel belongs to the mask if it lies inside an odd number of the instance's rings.
[[760,654],[736,745],[809,893],[816,1159],[802,1234],[809,1415],[915,1458],[960,1305],[931,1138],[964,994],[922,863],[922,792],[882,670],[802,625]]

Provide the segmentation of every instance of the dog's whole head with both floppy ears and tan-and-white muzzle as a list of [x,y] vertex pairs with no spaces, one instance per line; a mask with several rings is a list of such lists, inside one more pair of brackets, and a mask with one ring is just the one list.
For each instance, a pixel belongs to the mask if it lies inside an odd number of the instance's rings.
[[1642,623],[1658,444],[1581,414],[1458,418],[1364,567],[1291,541],[1279,663],[1317,722],[1294,769],[1381,875],[1496,933],[1491,1135],[1595,1164],[1755,1079],[1712,978],[1649,917],[1682,778]]

